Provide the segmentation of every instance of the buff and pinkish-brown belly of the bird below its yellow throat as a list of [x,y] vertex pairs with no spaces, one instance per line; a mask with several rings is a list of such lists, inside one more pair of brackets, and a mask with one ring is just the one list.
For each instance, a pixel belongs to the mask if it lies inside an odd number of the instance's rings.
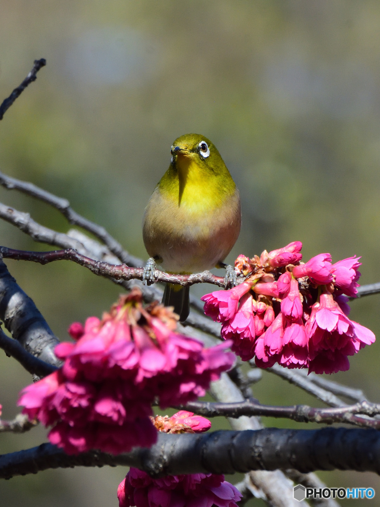
[[238,195],[201,214],[175,205],[168,209],[156,198],[146,208],[143,237],[149,255],[162,259],[162,269],[198,273],[224,260],[240,232]]

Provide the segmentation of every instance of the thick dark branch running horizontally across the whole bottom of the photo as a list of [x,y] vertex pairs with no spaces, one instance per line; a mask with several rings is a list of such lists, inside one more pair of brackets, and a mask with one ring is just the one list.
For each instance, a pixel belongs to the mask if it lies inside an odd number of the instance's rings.
[[[281,449],[281,452],[279,450]],[[48,468],[126,465],[148,474],[233,474],[250,470],[295,468],[380,473],[380,432],[374,429],[323,428],[213,433],[159,433],[158,443],[111,456],[91,451],[68,456],[51,444],[0,456],[0,478],[35,474]]]

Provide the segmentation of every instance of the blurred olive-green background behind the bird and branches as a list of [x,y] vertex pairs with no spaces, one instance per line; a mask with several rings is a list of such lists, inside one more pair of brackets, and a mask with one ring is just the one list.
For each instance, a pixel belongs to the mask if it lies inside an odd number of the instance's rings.
[[[2,171],[68,198],[146,259],[142,214],[168,167],[171,143],[203,133],[241,191],[243,227],[230,261],[301,240],[306,260],[325,251],[334,262],[362,256],[361,282],[380,280],[380,3],[2,0],[0,101],[41,57],[47,67],[0,122]],[[47,205],[4,189],[0,199],[68,230]],[[0,233],[3,245],[50,249],[7,223]],[[72,321],[101,315],[120,292],[68,262],[7,265],[63,340]],[[376,335],[379,303],[379,296],[352,303],[352,318]],[[379,402],[379,358],[375,343],[332,378]],[[0,353],[4,418],[17,413],[27,383],[30,376]],[[262,403],[318,405],[265,373],[254,394]],[[2,434],[0,453],[42,441],[44,428]],[[0,504],[116,506],[125,473],[78,468],[1,481]],[[374,474],[320,477],[334,487],[374,487],[371,504],[380,505]]]

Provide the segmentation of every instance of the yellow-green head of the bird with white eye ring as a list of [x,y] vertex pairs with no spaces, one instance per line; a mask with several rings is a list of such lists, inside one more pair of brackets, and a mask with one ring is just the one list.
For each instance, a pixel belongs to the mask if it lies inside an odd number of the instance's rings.
[[223,159],[214,144],[204,135],[185,134],[178,137],[171,147],[173,167],[188,171],[193,164],[205,172],[218,174],[225,170]]

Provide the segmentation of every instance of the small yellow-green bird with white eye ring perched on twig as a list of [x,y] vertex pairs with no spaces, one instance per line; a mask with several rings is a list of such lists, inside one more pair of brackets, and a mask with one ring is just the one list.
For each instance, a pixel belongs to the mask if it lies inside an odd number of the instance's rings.
[[[156,263],[176,274],[226,268],[223,260],[240,233],[239,190],[214,144],[203,135],[185,134],[173,142],[171,154],[144,213],[146,283],[154,281]],[[167,283],[162,301],[174,306],[181,322],[189,313],[188,288]]]

